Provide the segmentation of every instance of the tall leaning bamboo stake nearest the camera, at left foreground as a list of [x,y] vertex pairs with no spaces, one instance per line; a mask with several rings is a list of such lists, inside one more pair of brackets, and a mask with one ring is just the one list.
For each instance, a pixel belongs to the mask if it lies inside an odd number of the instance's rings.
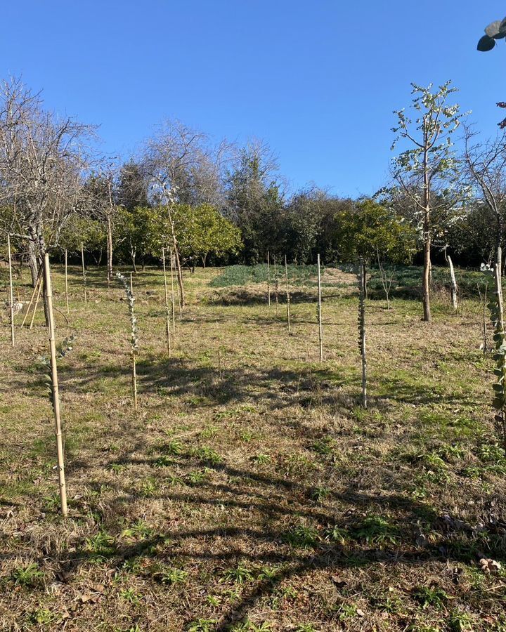
[[60,419],[60,394],[58,392],[58,369],[56,367],[56,341],[53,315],[53,292],[51,289],[51,271],[49,269],[49,255],[44,256],[44,285],[46,287],[46,301],[48,308],[49,347],[51,350],[51,391],[53,395],[53,411],[55,417],[56,454],[58,458],[58,482],[60,487],[60,502],[63,518],[67,518],[67,487],[65,485],[65,466],[63,462],[63,441]]

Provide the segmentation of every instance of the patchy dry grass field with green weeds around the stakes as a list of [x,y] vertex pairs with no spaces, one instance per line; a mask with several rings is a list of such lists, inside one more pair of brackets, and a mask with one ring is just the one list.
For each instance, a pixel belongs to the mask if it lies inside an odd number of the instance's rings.
[[[228,272],[226,272],[228,273]],[[70,518],[58,516],[41,320],[0,327],[0,629],[505,631],[506,459],[489,406],[481,307],[368,303],[360,401],[356,292],[325,271],[325,362],[313,279],[186,276],[164,352],[160,272],[134,277],[139,411],[121,289],[56,271]],[[217,287],[211,287],[217,286]],[[153,291],[155,294],[153,294]],[[149,293],[148,293],[149,292]],[[441,297],[440,297],[441,298]],[[280,295],[280,301],[282,295]]]

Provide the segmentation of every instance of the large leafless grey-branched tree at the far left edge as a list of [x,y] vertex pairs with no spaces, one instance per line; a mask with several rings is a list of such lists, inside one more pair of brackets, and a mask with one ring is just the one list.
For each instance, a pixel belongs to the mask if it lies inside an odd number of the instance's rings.
[[79,208],[89,166],[84,141],[92,131],[44,110],[20,79],[1,84],[0,192],[9,209],[1,228],[25,244],[33,284],[44,254]]

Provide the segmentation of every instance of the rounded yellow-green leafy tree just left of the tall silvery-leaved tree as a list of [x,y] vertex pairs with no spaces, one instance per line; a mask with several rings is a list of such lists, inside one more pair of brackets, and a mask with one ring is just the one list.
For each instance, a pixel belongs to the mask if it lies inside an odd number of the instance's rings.
[[342,261],[361,257],[374,261],[379,253],[391,263],[407,263],[416,251],[415,231],[391,209],[363,199],[336,215],[335,239]]

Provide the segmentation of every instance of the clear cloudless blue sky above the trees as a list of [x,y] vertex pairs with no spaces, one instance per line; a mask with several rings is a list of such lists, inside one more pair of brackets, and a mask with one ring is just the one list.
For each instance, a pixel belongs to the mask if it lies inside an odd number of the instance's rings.
[[476,42],[505,12],[470,0],[21,0],[2,6],[0,75],[22,73],[51,109],[100,124],[110,154],[176,117],[263,138],[293,188],[356,196],[387,176],[410,81],[453,79],[495,134],[506,45]]

